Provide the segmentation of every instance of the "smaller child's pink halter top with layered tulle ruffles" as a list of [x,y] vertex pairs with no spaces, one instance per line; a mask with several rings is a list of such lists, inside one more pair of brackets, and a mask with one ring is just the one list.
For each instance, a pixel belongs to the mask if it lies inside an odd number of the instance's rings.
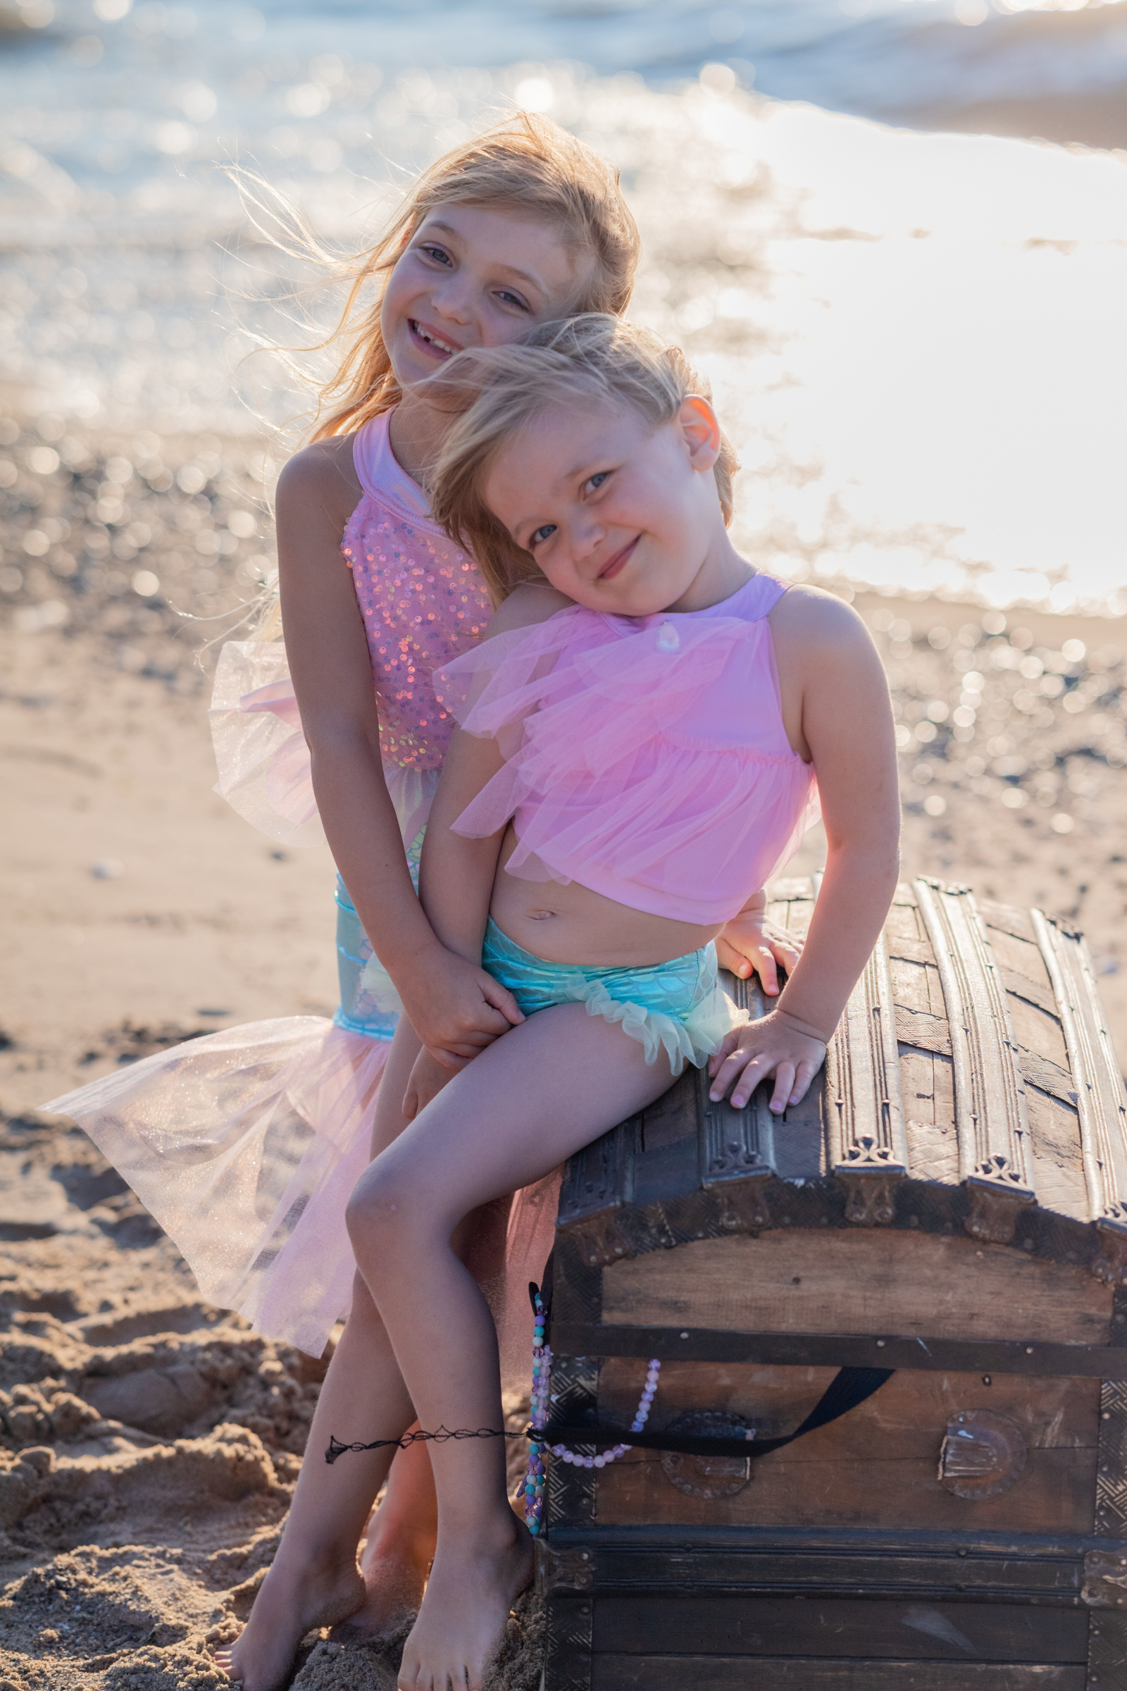
[[813,764],[782,727],[765,621],[784,592],[754,575],[681,616],[576,605],[446,665],[439,702],[505,756],[455,830],[483,837],[512,820],[510,874],[728,922],[818,815]]

